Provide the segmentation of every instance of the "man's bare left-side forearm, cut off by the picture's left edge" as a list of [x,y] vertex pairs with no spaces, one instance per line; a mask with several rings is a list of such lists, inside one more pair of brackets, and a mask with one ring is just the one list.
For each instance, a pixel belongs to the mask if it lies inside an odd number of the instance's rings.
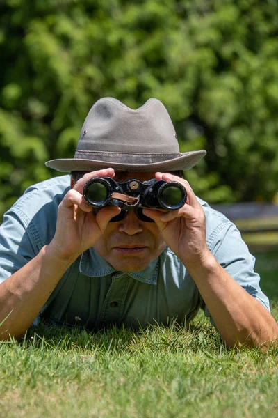
[[61,259],[49,246],[0,285],[0,339],[19,338],[56,287],[72,261]]

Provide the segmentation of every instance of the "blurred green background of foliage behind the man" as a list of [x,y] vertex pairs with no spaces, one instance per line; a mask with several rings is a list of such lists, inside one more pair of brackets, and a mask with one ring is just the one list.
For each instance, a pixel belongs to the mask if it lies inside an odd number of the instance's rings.
[[0,222],[96,100],[155,97],[181,151],[207,151],[195,193],[278,248],[277,0],[1,0],[0,21]]

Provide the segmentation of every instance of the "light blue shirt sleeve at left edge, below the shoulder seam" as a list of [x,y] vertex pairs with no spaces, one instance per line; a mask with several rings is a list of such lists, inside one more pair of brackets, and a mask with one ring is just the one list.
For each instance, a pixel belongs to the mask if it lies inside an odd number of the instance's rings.
[[17,212],[6,212],[0,226],[0,283],[38,254],[34,233]]

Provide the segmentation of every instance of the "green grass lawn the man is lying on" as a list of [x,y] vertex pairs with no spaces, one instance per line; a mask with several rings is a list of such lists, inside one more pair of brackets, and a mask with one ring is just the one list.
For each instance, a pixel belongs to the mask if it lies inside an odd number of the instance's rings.
[[[259,254],[278,319],[278,261]],[[202,314],[187,329],[40,327],[0,343],[0,417],[277,417],[278,348],[227,350]]]

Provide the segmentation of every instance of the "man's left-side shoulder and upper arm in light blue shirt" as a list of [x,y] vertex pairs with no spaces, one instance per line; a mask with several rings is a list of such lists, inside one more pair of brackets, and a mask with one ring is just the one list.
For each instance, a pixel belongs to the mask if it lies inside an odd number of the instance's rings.
[[3,216],[0,226],[0,282],[22,268],[54,236],[58,204],[70,176],[46,180],[26,192]]

